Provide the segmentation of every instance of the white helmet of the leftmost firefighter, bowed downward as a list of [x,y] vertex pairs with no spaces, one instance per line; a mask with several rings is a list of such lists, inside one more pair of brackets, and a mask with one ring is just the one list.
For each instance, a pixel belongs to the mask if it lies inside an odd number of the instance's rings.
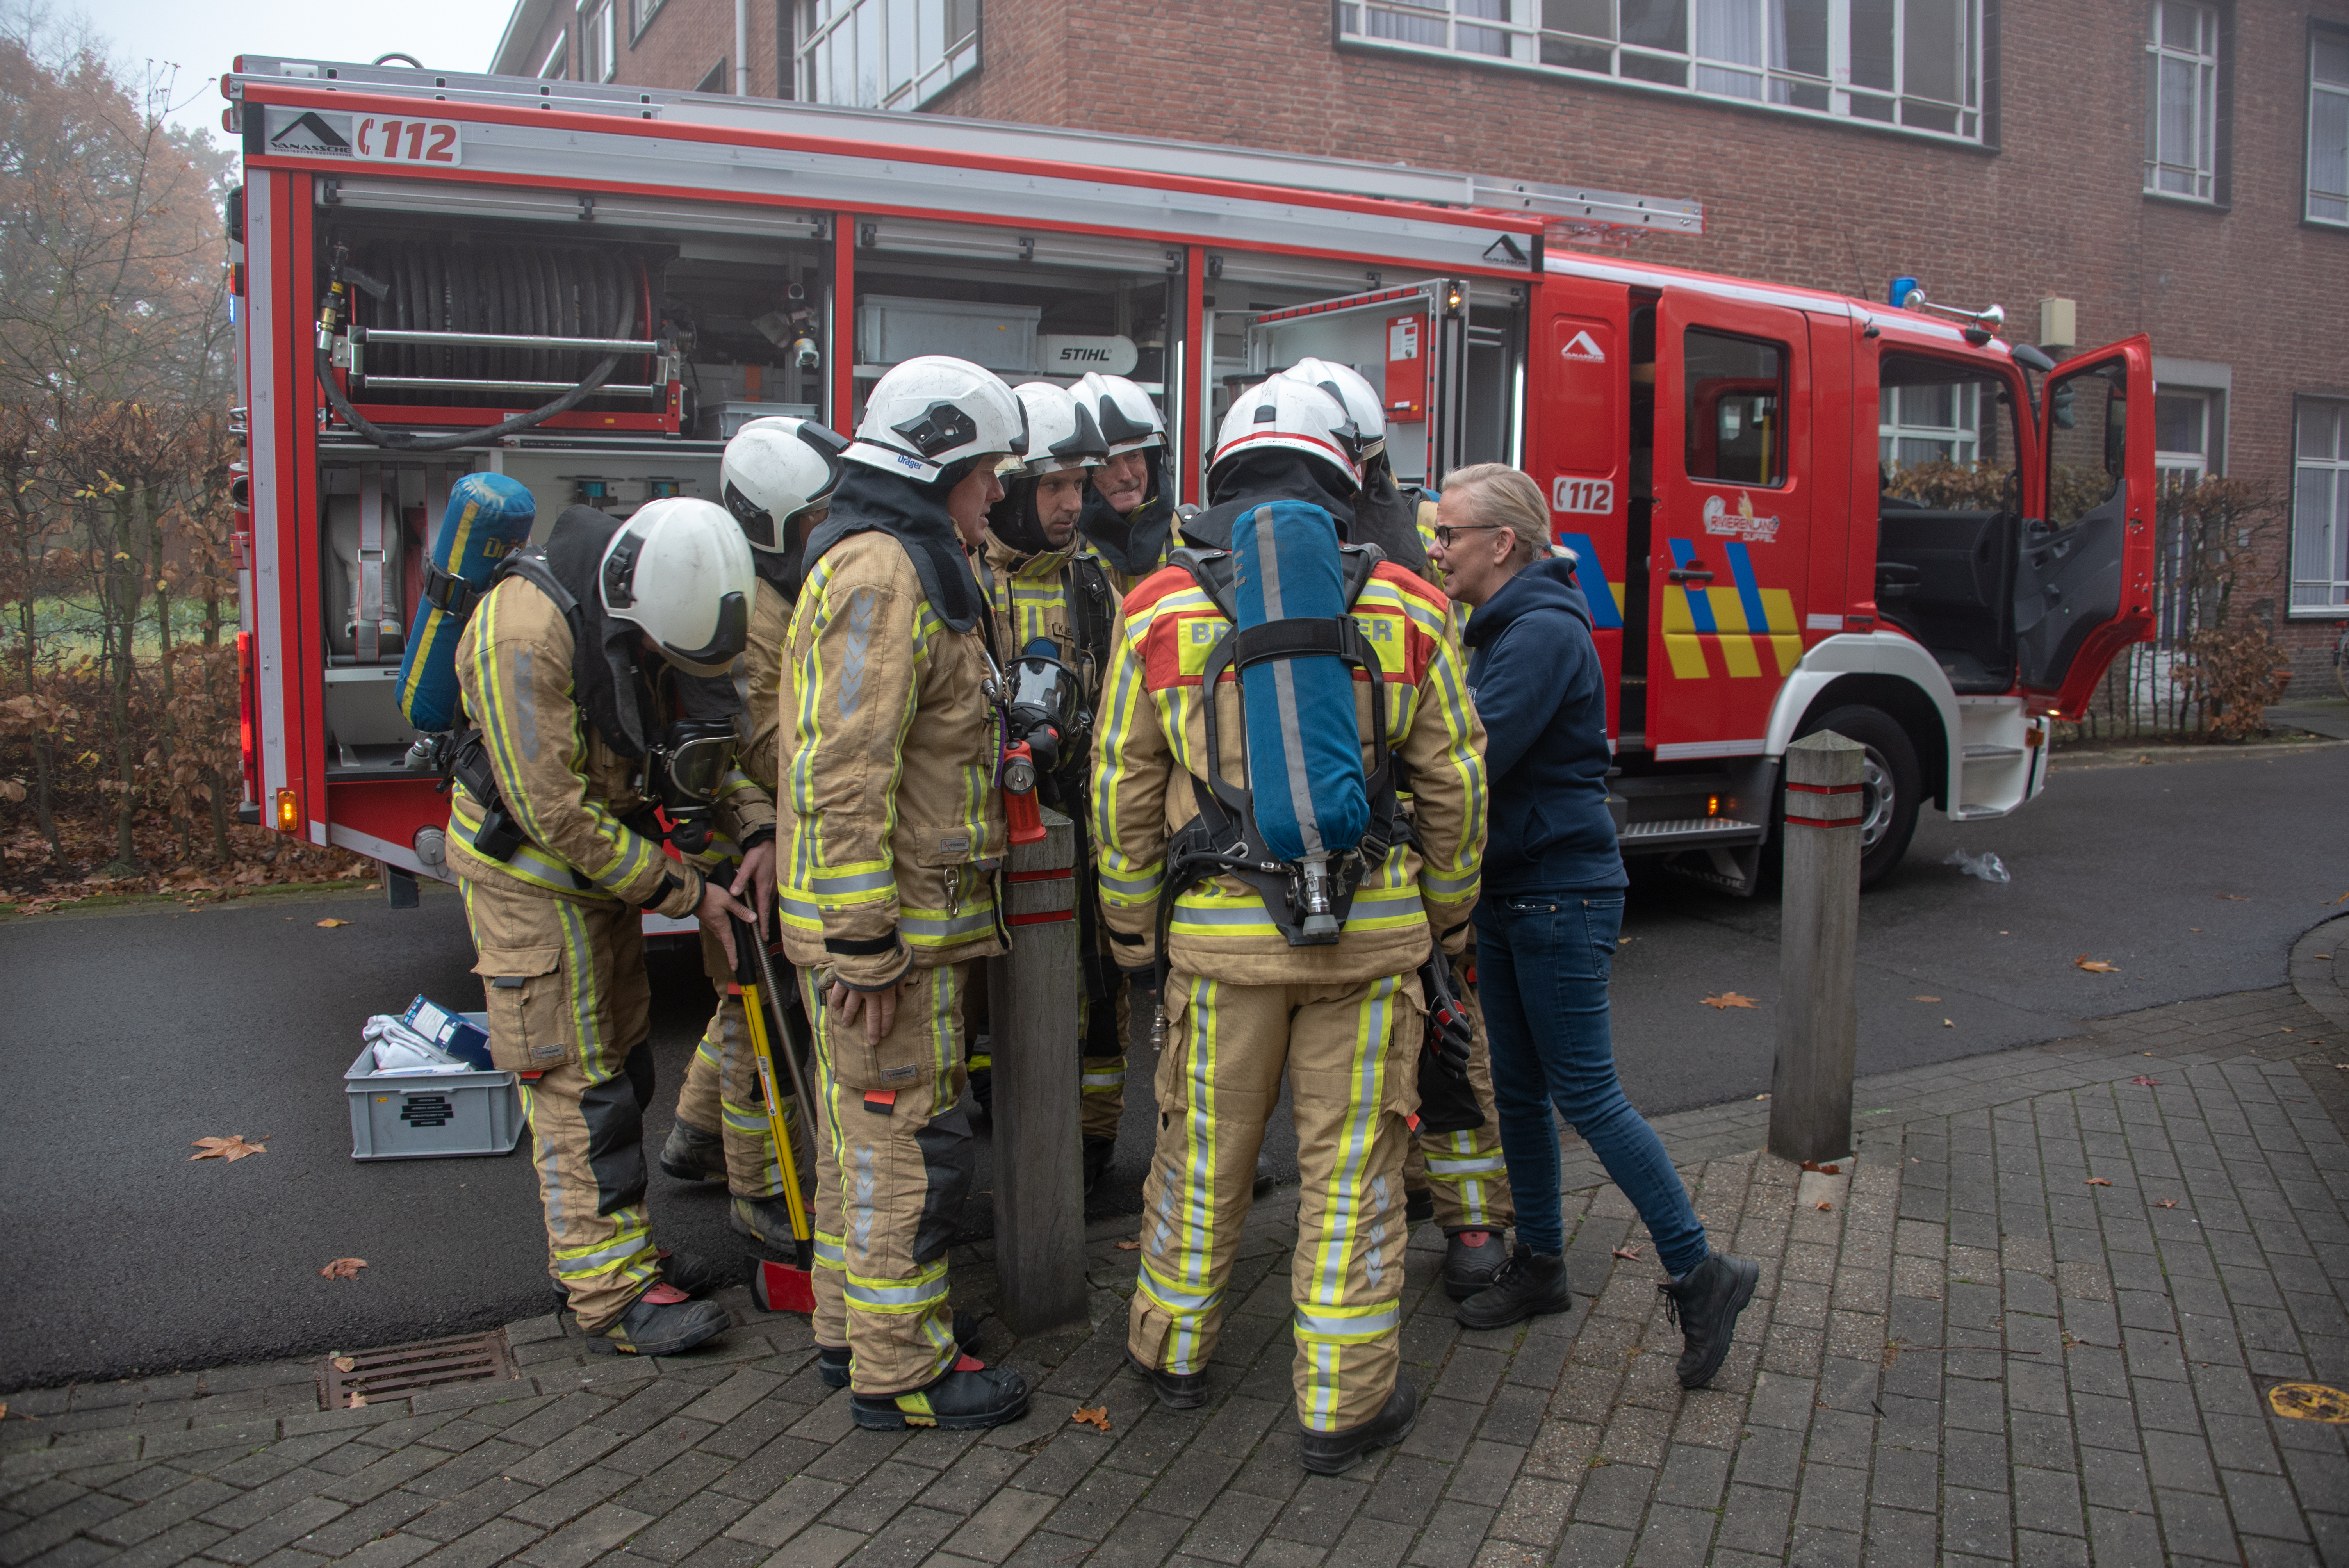
[[726,507],[667,495],[637,507],[604,547],[604,613],[644,631],[662,657],[698,676],[723,676],[749,643],[759,568]]

